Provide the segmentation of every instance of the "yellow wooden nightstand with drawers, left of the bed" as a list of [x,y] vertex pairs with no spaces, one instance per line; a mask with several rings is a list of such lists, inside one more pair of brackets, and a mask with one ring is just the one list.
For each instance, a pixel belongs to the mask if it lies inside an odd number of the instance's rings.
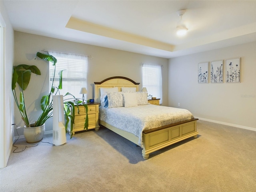
[[[87,103],[88,106],[88,129],[99,130],[99,103]],[[79,114],[78,114],[79,108]],[[75,120],[73,124],[73,134],[78,131],[84,130],[84,122],[86,119],[85,107],[79,105],[78,108],[75,106]]]

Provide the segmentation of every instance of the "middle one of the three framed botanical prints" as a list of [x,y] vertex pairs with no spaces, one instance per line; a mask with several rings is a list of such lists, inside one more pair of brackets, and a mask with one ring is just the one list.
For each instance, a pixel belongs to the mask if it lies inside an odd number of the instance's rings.
[[211,83],[223,83],[223,60],[212,61],[210,68]]

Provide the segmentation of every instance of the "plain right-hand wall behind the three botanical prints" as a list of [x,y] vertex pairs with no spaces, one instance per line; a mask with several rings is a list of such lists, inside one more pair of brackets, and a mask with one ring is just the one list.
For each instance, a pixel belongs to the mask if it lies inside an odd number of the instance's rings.
[[[199,62],[237,57],[241,83],[197,83]],[[170,59],[169,106],[178,103],[199,118],[256,128],[256,42]]]

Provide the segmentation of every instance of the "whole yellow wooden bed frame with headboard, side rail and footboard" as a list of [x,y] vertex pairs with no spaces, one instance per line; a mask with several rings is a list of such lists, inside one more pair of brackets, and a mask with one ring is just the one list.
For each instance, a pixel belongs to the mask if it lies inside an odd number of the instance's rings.
[[[94,84],[94,101],[100,103],[100,88],[118,87],[118,90],[121,91],[121,87],[136,87],[136,90],[138,91],[140,83],[136,83],[133,80],[126,77],[116,76],[107,78],[101,82],[94,82]],[[197,120],[197,118],[194,118],[191,120],[186,120],[143,131],[143,158],[148,159],[150,153],[162,149],[171,144],[174,144],[176,142],[182,141],[184,139],[190,137],[197,138]],[[102,120],[99,120],[99,124],[138,145],[139,138],[134,134],[124,130],[120,130]]]

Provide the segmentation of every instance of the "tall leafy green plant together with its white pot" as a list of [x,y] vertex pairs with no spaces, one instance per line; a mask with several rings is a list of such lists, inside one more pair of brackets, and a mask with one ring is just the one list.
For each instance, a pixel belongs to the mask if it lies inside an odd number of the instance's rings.
[[[54,77],[55,77],[55,70],[56,70],[56,63],[57,59],[48,54],[47,52],[37,52],[36,56],[42,60],[47,60],[49,62],[52,62],[52,65],[54,66],[54,76],[52,80],[52,86],[50,89],[49,94],[43,96],[41,98],[41,109],[42,113],[38,117],[38,120],[36,122],[30,123],[28,120],[28,115],[26,112],[26,105],[25,105],[25,99],[24,99],[24,90],[28,87],[28,84],[30,82],[31,73],[41,75],[40,70],[32,65],[26,65],[26,64],[20,64],[18,66],[13,67],[13,73],[12,73],[12,93],[14,96],[15,103],[20,111],[21,118],[24,121],[24,137],[26,138],[26,141],[29,143],[38,142],[42,140],[42,137],[44,135],[45,131],[45,122],[49,118],[52,117],[52,110],[53,110],[53,96],[59,94],[59,90],[62,89],[62,72],[61,70],[59,72],[59,85],[58,87],[53,86],[54,83]],[[16,84],[19,85],[19,99],[16,94]],[[78,104],[81,104],[82,101],[79,101],[77,98],[75,98],[72,94],[66,93],[65,96],[69,96],[69,98],[64,99],[64,117],[65,117],[65,128],[66,132],[68,132],[68,124],[70,123],[70,138],[72,138],[72,130],[73,130],[73,124],[74,124],[74,114],[75,114],[75,107],[78,108]],[[65,97],[64,96],[64,97]],[[71,97],[71,98],[70,98]],[[75,102],[73,102],[73,100]],[[82,104],[86,108],[86,120],[84,123],[84,130],[88,129],[88,106],[86,104]]]

